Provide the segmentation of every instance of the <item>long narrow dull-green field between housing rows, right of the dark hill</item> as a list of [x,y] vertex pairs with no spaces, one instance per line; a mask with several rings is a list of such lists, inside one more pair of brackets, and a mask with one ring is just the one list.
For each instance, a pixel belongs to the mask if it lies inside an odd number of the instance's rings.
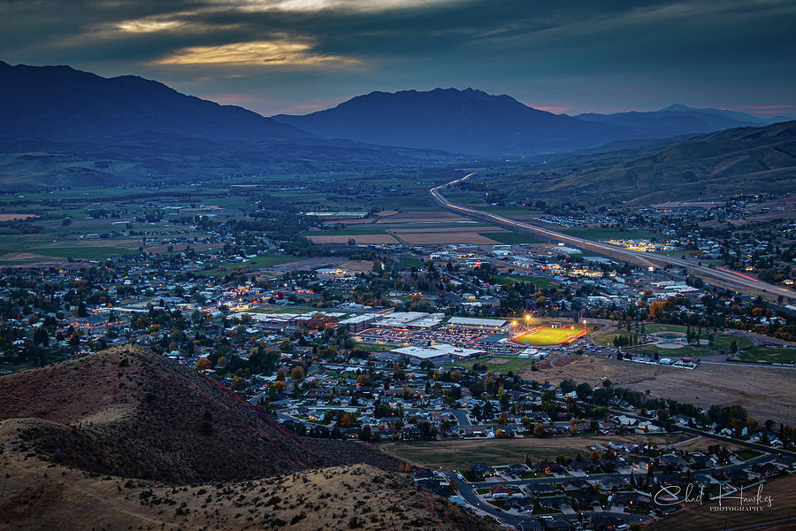
[[690,438],[686,434],[578,436],[539,439],[478,439],[445,440],[417,443],[385,443],[379,450],[404,459],[417,466],[443,468],[445,470],[467,469],[473,463],[486,461],[491,466],[511,465],[524,462],[530,455],[535,461],[541,458],[555,459],[557,456],[574,458],[578,453],[588,455],[595,443],[672,444]]

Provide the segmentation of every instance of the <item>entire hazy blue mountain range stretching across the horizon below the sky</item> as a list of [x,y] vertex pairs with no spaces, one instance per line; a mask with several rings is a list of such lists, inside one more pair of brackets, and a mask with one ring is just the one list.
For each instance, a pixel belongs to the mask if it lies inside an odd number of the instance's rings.
[[[779,164],[789,167],[785,153],[775,155],[777,149],[760,145],[746,152],[741,164],[734,158],[737,143],[712,136],[728,128],[764,127],[762,119],[682,104],[654,112],[568,116],[534,109],[510,96],[433,89],[372,92],[325,111],[267,118],[135,76],[103,78],[69,66],[0,62],[0,77],[0,191],[406,168],[476,159],[502,164],[506,156],[530,162],[590,157],[583,166],[598,168],[628,152],[640,157],[668,147],[668,153],[681,151],[683,142],[698,135],[708,135],[695,140],[698,151],[711,144],[710,150],[724,154],[717,158],[735,161],[730,168],[745,164],[770,172]],[[779,142],[765,132],[760,139]],[[582,157],[573,159],[569,154],[576,150]],[[603,157],[606,152],[619,155]],[[670,158],[644,160],[656,168],[651,174],[672,168]],[[691,163],[693,174],[708,172],[697,158],[682,158],[678,167]],[[682,169],[682,174],[689,171]],[[582,168],[574,173],[593,176]],[[719,174],[735,173],[724,169]]]

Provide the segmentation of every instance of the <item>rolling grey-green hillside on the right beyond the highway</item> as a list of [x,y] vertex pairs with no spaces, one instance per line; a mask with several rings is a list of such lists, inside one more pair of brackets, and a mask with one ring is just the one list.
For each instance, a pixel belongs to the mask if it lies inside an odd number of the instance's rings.
[[796,121],[567,158],[517,170],[494,186],[506,196],[637,204],[790,191],[796,187]]

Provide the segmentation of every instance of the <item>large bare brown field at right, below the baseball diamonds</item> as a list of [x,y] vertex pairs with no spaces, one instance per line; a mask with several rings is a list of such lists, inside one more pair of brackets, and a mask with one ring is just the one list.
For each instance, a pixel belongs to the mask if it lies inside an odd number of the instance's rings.
[[766,419],[796,423],[796,371],[769,366],[729,366],[702,363],[692,370],[652,366],[608,358],[578,357],[569,365],[526,371],[524,378],[559,383],[585,381],[600,385],[602,377],[615,385],[709,407],[740,404],[761,424]]

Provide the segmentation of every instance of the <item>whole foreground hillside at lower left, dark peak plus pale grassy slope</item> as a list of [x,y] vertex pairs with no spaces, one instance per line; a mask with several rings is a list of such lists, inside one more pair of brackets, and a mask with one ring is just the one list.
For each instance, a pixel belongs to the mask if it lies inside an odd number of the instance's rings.
[[2,529],[496,529],[397,463],[141,348],[0,378]]

